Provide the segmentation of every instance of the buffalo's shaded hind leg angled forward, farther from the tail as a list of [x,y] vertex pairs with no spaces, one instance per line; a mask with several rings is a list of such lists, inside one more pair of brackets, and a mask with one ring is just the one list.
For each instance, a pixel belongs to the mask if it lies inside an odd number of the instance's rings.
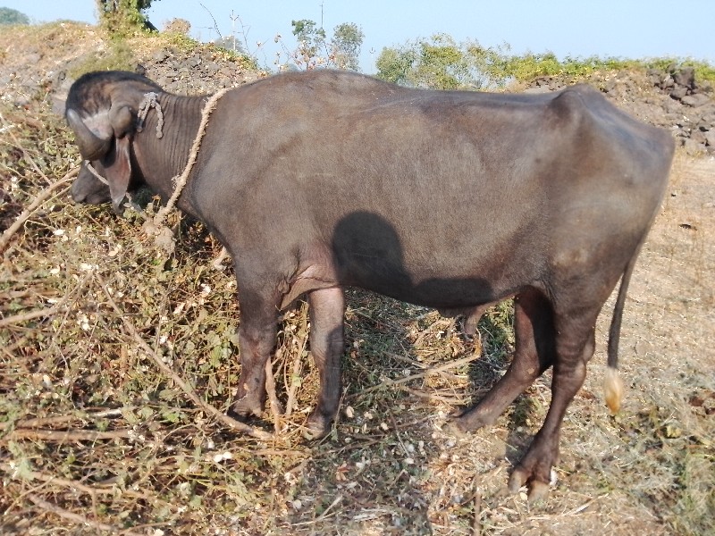
[[509,369],[474,407],[448,425],[461,434],[489,425],[547,368],[554,356],[551,304],[537,289],[514,297],[516,350]]

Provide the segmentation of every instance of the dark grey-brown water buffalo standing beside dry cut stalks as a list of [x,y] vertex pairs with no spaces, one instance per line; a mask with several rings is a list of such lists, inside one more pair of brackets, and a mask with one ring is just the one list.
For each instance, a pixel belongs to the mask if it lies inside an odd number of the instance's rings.
[[[163,113],[139,119],[148,92]],[[129,72],[96,72],[72,85],[66,118],[116,206],[142,183],[171,196],[205,104],[206,96],[172,95]],[[628,281],[673,151],[668,132],[587,86],[431,91],[312,71],[232,89],[211,116],[178,206],[233,257],[241,311],[233,414],[264,411],[278,314],[299,296],[307,296],[321,381],[308,418],[315,436],[329,430],[341,398],[346,286],[475,314],[513,296],[509,370],[451,429],[493,423],[553,366],[543,427],[509,479],[511,490],[528,482],[530,497],[543,497],[562,419],[593,356],[596,318],[621,280],[608,348],[616,383]],[[80,176],[78,198],[92,180]],[[618,392],[609,403],[617,408]]]

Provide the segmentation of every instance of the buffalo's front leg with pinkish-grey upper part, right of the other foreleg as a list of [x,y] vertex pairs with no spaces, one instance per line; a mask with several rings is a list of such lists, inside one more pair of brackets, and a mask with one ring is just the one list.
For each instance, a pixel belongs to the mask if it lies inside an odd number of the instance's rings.
[[317,289],[308,294],[310,351],[320,375],[317,406],[307,420],[310,438],[326,435],[331,428],[341,399],[341,356],[343,353],[342,289]]

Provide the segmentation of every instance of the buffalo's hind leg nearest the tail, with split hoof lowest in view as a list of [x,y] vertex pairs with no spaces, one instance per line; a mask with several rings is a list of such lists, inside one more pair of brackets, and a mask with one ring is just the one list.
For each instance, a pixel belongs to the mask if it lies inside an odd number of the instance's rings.
[[598,308],[591,314],[568,314],[556,320],[556,360],[551,381],[551,406],[542,428],[509,478],[509,490],[529,484],[529,500],[540,500],[549,492],[551,467],[559,461],[559,434],[566,409],[584,383],[586,363],[595,348],[594,324]]

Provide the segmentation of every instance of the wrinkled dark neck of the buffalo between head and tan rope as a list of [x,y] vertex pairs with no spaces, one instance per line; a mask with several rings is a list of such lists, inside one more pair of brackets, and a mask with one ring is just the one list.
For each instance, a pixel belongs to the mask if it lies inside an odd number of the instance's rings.
[[[189,161],[189,152],[196,138],[201,112],[207,99],[207,96],[161,93],[157,96],[157,101],[164,113],[164,135],[162,138],[156,137],[156,125],[159,121],[156,108],[147,113],[141,132],[134,134],[133,165],[139,167],[135,172],[149,188],[162,197],[164,203],[174,190],[172,178],[180,176]],[[199,154],[200,152],[199,148]],[[191,175],[186,188],[181,191],[177,206],[195,216],[196,210],[188,195]]]

